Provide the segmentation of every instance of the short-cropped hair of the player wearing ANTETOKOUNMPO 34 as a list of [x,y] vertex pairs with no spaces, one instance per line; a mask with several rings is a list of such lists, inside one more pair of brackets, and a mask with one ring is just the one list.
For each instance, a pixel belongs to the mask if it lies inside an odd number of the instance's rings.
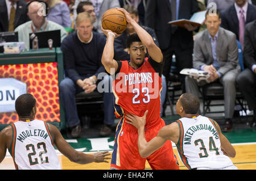
[[196,95],[184,93],[180,96],[180,104],[187,114],[196,114],[200,108],[200,100]]

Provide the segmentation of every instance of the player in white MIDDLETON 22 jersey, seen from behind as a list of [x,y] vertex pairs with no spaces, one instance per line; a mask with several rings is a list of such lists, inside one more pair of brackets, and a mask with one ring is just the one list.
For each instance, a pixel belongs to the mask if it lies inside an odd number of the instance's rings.
[[20,95],[15,102],[19,121],[0,132],[0,163],[9,150],[14,160],[15,169],[57,170],[61,169],[59,159],[53,147],[69,160],[86,164],[107,162],[108,151],[85,154],[76,151],[64,140],[59,130],[52,124],[36,120],[36,99],[31,94]]

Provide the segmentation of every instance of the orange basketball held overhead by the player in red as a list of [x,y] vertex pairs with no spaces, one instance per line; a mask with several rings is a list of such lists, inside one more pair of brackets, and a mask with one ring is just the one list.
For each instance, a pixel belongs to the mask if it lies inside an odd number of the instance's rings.
[[115,8],[109,9],[104,13],[101,18],[101,24],[105,30],[111,30],[117,34],[125,31],[127,26],[125,14]]

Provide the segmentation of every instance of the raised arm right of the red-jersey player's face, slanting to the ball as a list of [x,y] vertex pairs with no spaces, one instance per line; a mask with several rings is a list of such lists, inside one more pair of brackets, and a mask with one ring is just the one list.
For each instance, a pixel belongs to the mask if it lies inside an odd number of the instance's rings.
[[148,54],[150,57],[156,61],[156,62],[162,62],[163,61],[163,54],[160,48],[154,43],[154,40],[148,34],[146,30],[144,30],[133,18],[131,18],[131,15],[129,12],[127,12],[125,9],[118,8],[119,11],[122,11],[125,14],[127,23],[130,23],[131,26],[133,26],[134,30],[137,32],[139,39],[141,39],[142,44],[146,46],[148,50]]

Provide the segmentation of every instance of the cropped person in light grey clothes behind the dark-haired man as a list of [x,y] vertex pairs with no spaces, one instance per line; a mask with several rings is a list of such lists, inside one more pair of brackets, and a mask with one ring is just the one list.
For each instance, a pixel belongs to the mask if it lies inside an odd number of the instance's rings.
[[[77,10],[76,10],[77,5],[79,5],[79,3],[81,1],[89,1],[89,0],[75,0],[74,10],[73,10],[73,15],[74,15],[75,19],[77,16]],[[96,22],[93,24],[93,27],[95,28],[95,30],[102,33],[102,31],[101,31],[102,15],[104,15],[104,13],[109,9],[112,9],[114,7],[120,7],[119,1],[118,0],[104,0],[104,1],[103,0],[90,0],[90,2],[93,3],[94,11],[96,14]]]

